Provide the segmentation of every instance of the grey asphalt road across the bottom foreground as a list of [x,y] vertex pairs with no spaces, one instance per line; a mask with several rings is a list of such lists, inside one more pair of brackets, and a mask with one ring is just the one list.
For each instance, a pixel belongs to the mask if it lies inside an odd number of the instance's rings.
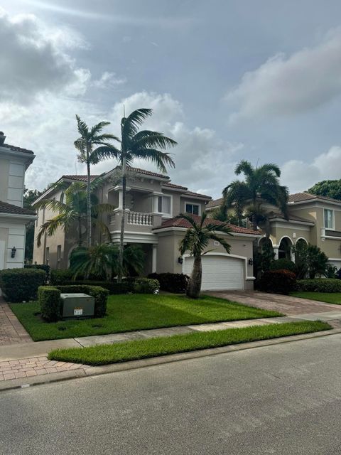
[[341,454],[341,335],[0,394],[1,455]]

